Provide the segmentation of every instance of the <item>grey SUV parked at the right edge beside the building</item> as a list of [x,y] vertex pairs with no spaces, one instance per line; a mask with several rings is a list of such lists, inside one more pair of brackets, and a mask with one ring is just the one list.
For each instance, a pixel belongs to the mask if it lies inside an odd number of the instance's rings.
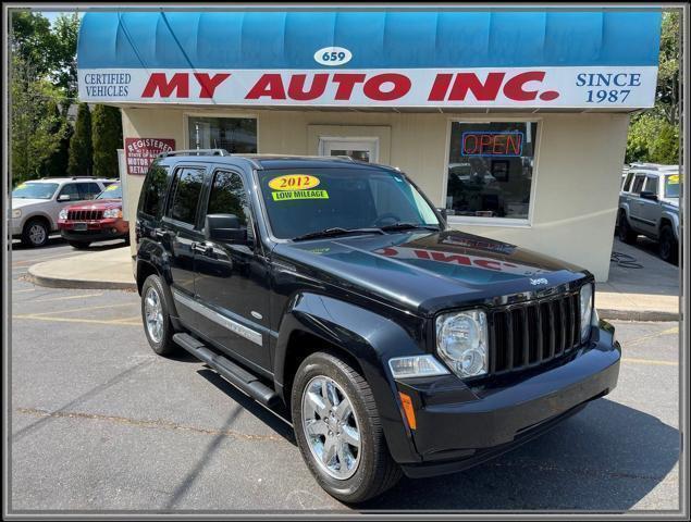
[[655,239],[659,257],[676,263],[679,254],[678,165],[633,163],[625,170],[617,215],[618,236],[632,244],[639,235]]

